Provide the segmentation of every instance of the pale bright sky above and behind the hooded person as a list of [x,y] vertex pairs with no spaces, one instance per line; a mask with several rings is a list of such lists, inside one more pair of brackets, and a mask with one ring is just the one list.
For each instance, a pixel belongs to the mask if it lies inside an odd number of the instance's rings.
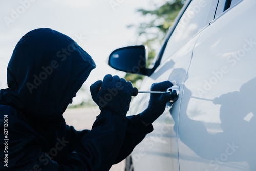
[[94,59],[83,88],[106,74],[125,73],[107,65],[109,54],[120,47],[139,44],[136,28],[145,18],[137,9],[152,9],[164,0],[0,0],[0,88],[7,88],[6,69],[19,39],[36,28],[51,28],[74,39]]

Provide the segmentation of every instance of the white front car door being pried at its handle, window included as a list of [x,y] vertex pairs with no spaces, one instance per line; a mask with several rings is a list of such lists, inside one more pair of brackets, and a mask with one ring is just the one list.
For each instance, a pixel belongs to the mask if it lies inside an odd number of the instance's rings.
[[[170,28],[167,45],[160,66],[143,80],[140,90],[150,90],[151,84],[162,81],[175,81],[180,86],[181,95],[172,108],[153,123],[154,131],[134,149],[132,163],[134,170],[179,170],[178,118],[182,98],[183,83],[190,65],[193,48],[201,33],[213,19],[217,3],[194,0],[185,6],[185,12],[178,24]],[[142,112],[148,106],[150,95],[139,94],[130,105],[129,114]],[[169,106],[170,107],[170,106]],[[176,130],[175,130],[176,129]]]

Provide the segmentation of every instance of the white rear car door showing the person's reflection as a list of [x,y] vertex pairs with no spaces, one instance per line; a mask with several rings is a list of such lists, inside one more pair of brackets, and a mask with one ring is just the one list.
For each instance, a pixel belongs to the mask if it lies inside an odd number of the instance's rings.
[[219,1],[218,8],[196,42],[183,87],[182,171],[256,170],[256,2]]

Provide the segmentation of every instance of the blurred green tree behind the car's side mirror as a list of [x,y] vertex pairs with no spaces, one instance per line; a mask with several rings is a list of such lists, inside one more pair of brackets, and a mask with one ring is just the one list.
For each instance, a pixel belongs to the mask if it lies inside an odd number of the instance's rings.
[[[167,1],[165,4],[157,7],[155,5],[154,10],[139,9],[145,22],[142,22],[137,26],[138,39],[137,44],[144,44],[148,47],[148,59],[147,66],[150,65],[154,59],[156,52],[159,51],[162,41],[169,29],[172,26],[176,16],[183,7],[185,0],[172,0]],[[136,27],[129,25],[128,27]],[[139,86],[137,81],[144,78],[142,75],[127,73],[125,79],[131,81],[134,86]],[[136,85],[137,82],[137,85]]]

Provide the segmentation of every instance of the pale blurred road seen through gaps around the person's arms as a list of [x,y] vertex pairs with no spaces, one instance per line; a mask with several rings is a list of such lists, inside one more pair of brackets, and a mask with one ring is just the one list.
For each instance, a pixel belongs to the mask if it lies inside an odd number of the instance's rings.
[[[74,126],[76,130],[91,129],[100,110],[98,107],[67,109],[63,114],[66,124]],[[111,167],[110,171],[123,171],[125,162],[122,161]]]

